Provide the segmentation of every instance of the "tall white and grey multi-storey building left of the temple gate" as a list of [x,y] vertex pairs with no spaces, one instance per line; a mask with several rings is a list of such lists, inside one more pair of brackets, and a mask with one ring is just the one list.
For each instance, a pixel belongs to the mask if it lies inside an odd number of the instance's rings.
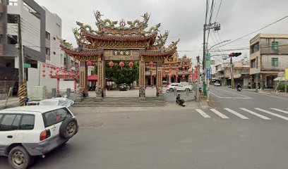
[[[20,15],[27,85],[46,86],[48,90],[56,88],[56,80],[49,78],[50,70],[43,68],[42,63],[55,67],[64,65],[64,52],[61,51],[56,38],[61,37],[61,18],[31,0],[2,0],[0,12],[0,69],[4,72],[16,70],[12,81],[14,86],[18,86],[18,15]],[[43,74],[45,77],[42,77]],[[0,75],[1,77],[3,78]]]

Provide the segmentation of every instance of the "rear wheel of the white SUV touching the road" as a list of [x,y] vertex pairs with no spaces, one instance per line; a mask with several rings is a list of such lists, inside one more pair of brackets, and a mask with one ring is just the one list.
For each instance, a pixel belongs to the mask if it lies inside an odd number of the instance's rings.
[[13,168],[25,169],[34,162],[34,158],[28,154],[23,146],[16,146],[9,152],[8,162]]

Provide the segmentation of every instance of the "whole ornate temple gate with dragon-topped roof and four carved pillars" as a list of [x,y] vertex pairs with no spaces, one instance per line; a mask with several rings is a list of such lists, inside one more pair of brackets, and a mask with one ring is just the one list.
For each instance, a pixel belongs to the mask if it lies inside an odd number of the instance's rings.
[[165,31],[158,35],[160,23],[148,27],[150,15],[145,13],[143,20],[125,22],[125,20],[102,20],[101,14],[95,14],[97,30],[90,25],[76,22],[79,26],[73,29],[78,44],[77,48],[61,39],[61,49],[80,61],[80,87],[88,96],[88,65],[97,65],[98,86],[97,96],[106,96],[105,63],[107,61],[138,61],[139,62],[139,96],[145,98],[145,63],[156,65],[157,96],[162,94],[162,64],[176,53],[176,42],[164,46],[169,35]]

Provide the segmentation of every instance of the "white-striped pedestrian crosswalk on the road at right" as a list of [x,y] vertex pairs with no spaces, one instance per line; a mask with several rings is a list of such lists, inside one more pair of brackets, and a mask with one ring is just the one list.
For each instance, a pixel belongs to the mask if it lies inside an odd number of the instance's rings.
[[195,109],[195,111],[203,118],[239,118],[243,120],[260,118],[263,120],[288,120],[288,111],[280,108],[203,108]]

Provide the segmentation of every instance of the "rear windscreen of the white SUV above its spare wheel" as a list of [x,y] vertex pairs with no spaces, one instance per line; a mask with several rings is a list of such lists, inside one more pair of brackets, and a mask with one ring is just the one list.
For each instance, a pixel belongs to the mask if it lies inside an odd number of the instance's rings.
[[49,127],[63,121],[66,117],[72,117],[71,113],[66,108],[60,108],[55,111],[49,111],[43,114],[44,125]]

